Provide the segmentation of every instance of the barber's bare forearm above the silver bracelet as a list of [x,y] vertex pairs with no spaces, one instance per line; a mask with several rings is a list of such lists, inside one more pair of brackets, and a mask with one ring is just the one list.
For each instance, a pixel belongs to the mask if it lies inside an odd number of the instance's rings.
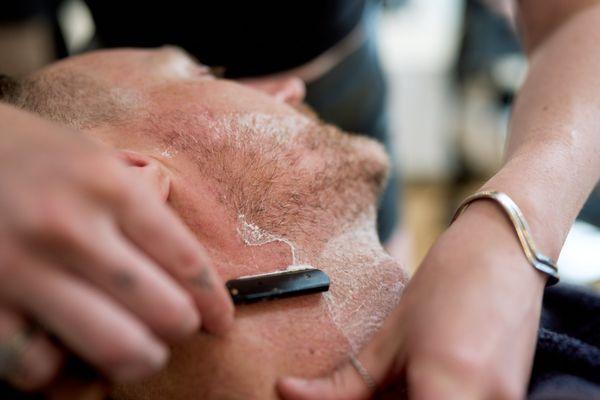
[[509,193],[556,258],[600,176],[600,5],[560,24],[531,53],[504,167],[485,187]]

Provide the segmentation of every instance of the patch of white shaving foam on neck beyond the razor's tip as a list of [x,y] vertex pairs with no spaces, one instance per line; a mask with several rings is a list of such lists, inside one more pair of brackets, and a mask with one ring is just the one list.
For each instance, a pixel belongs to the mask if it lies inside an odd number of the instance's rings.
[[374,208],[331,237],[314,264],[331,278],[324,295],[328,314],[357,353],[396,307],[408,280],[381,246]]

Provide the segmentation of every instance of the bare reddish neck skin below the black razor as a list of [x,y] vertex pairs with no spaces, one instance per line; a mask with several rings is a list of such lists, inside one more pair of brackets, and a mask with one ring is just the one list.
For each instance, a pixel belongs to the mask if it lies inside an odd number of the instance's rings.
[[118,393],[144,399],[277,399],[280,376],[316,377],[347,360],[347,341],[325,307],[320,294],[240,307],[226,337],[196,336],[174,348],[166,370]]

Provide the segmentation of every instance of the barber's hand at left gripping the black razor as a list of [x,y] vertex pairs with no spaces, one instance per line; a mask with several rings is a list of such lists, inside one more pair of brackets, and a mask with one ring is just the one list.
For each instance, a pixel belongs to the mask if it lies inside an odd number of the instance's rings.
[[43,331],[127,380],[164,365],[166,344],[200,321],[231,326],[205,251],[121,161],[11,107],[0,121],[0,378],[52,379],[63,356]]

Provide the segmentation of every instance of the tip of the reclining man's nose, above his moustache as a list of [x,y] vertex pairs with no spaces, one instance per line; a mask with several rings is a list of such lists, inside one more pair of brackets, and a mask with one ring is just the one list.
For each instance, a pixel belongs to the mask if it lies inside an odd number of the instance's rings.
[[298,104],[304,100],[306,95],[306,85],[302,79],[295,76],[268,75],[260,78],[240,79],[240,83],[288,104]]

